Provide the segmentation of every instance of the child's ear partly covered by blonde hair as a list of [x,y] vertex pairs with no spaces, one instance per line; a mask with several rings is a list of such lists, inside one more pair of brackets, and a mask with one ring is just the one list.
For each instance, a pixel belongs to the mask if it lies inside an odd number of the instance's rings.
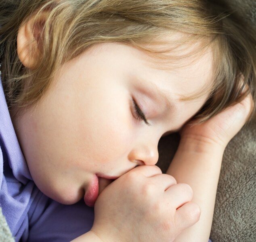
[[46,21],[48,13],[42,13],[39,17],[32,17],[21,24],[17,35],[17,52],[21,63],[33,69],[36,60],[40,58],[40,46],[42,46],[42,38],[40,38],[42,28]]

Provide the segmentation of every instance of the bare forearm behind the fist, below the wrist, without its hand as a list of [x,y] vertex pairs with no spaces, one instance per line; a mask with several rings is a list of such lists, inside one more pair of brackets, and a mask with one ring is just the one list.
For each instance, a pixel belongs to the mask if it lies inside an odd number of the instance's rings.
[[208,242],[222,154],[224,148],[197,140],[181,139],[167,174],[177,183],[187,183],[193,190],[193,202],[201,208],[197,223],[185,229],[175,242]]

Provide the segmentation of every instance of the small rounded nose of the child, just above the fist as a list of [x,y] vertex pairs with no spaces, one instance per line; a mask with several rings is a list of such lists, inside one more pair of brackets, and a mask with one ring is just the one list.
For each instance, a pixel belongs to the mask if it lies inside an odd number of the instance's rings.
[[128,159],[138,165],[155,165],[158,161],[159,154],[157,145],[147,144],[136,146],[128,154]]

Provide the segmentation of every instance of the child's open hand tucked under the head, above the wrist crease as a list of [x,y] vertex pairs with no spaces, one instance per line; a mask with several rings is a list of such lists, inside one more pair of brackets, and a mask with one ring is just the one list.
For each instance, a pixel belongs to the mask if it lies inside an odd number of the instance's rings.
[[194,123],[191,121],[181,129],[181,139],[218,144],[225,148],[246,123],[253,105],[252,95],[249,94],[241,102],[226,108],[204,123],[191,126]]

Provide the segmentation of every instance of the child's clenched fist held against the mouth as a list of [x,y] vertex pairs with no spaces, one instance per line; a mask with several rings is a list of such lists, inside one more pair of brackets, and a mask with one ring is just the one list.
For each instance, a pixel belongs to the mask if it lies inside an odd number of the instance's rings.
[[103,242],[171,242],[199,220],[192,196],[189,185],[159,167],[136,167],[101,192],[91,232]]

